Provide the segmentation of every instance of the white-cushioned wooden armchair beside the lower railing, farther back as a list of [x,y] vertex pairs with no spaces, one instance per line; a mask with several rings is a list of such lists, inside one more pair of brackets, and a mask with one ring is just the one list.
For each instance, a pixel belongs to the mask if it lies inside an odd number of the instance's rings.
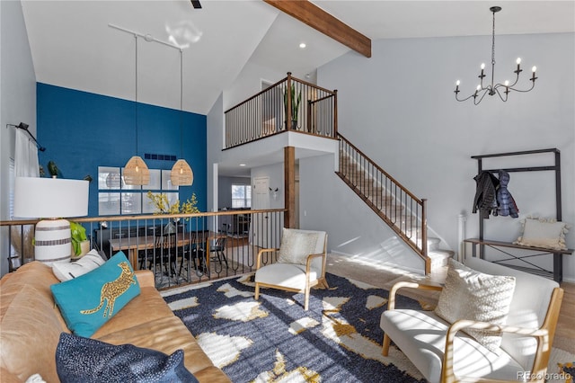
[[[305,293],[304,309],[309,306],[309,291],[314,286],[327,288],[325,260],[327,233],[324,231],[284,228],[278,248],[261,249],[256,259],[255,299],[260,288],[283,289]],[[265,253],[279,252],[277,263],[261,265]]]

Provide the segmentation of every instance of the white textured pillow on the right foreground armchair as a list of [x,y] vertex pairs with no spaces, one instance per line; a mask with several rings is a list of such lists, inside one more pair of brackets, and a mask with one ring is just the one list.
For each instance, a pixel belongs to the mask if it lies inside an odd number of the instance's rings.
[[[514,290],[515,277],[483,274],[450,259],[435,313],[449,323],[469,319],[505,325]],[[475,329],[466,329],[465,333],[499,353],[501,334]]]

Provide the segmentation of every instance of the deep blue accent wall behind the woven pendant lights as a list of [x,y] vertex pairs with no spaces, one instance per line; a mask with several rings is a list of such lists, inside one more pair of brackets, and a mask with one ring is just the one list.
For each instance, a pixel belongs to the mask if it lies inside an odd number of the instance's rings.
[[[39,152],[40,165],[47,170],[48,162],[54,161],[63,178],[92,176],[89,217],[98,216],[98,166],[123,167],[136,151],[142,158],[149,153],[177,159],[183,152],[194,172],[194,183],[180,187],[180,200],[196,193],[199,210],[206,211],[205,115],[141,102],[136,105],[119,98],[41,83],[37,84],[36,92],[38,141],[46,147],[46,151]],[[150,169],[172,169],[175,163],[145,161]]]

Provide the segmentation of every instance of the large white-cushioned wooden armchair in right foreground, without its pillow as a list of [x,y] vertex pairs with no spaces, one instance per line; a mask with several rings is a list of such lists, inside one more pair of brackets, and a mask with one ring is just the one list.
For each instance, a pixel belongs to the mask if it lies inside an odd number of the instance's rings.
[[[388,308],[381,316],[380,327],[385,332],[383,354],[387,356],[393,340],[431,383],[544,382],[563,290],[555,281],[478,258],[467,259],[465,266],[478,274],[489,274],[488,277],[515,278],[515,289],[509,293],[507,318],[503,316],[503,321],[497,324],[466,319],[447,321],[438,316],[438,308],[435,311],[395,308],[398,289],[442,289],[439,286],[399,282],[391,289]],[[476,290],[480,291],[480,295],[489,296],[491,301],[497,300],[492,296],[500,291],[482,294],[481,291],[486,291],[487,287],[482,282],[478,287]],[[456,298],[453,301],[466,304],[465,309],[474,309],[473,301]],[[472,329],[499,333],[500,344],[491,350],[475,336],[469,335],[473,334]]]

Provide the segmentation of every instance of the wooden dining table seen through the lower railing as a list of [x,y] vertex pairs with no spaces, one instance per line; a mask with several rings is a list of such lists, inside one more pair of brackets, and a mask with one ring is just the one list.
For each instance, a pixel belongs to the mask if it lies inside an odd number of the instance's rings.
[[[178,247],[185,245],[206,245],[205,249],[205,264],[209,270],[209,244],[217,238],[225,237],[225,233],[219,233],[210,230],[199,230],[190,232],[175,233],[176,244]],[[140,250],[149,250],[155,247],[156,236],[124,236],[120,238],[113,238],[110,240],[111,249],[114,253],[119,251],[128,251],[128,260],[132,264],[134,270],[138,269],[137,254]]]

